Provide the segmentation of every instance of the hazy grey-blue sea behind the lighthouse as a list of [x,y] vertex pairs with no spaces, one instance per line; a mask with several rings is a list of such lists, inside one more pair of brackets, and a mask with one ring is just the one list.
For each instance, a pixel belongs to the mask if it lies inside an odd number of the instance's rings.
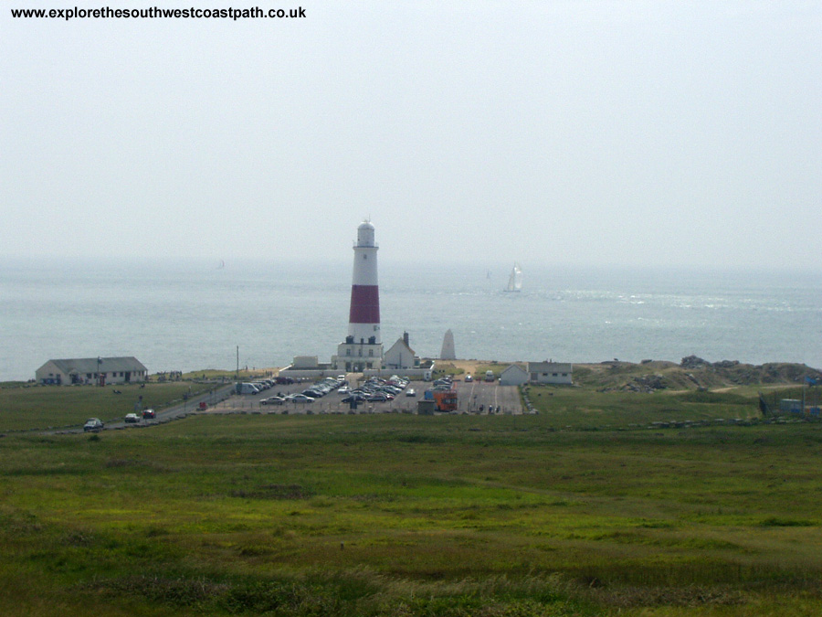
[[[590,363],[798,362],[822,367],[822,273],[381,262],[385,349]],[[6,261],[0,381],[49,359],[135,356],[150,373],[328,361],[347,333],[351,263]]]

